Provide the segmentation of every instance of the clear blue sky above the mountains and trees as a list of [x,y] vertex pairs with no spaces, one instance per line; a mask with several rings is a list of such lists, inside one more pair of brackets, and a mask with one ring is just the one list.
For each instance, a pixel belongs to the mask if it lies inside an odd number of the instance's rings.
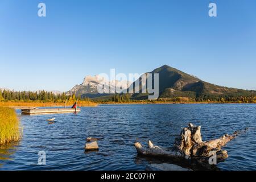
[[164,64],[256,90],[256,1],[1,0],[0,63],[0,88],[15,90],[66,91],[110,68],[143,73]]

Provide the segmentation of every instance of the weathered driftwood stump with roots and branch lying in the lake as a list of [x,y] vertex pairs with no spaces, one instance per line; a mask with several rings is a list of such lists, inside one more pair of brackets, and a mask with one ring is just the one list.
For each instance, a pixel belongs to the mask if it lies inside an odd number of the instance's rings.
[[221,147],[245,130],[247,128],[234,131],[232,135],[225,134],[218,139],[203,142],[201,126],[194,126],[192,123],[189,123],[188,127],[181,129],[179,137],[175,139],[174,146],[169,149],[155,146],[151,140],[148,141],[148,147],[143,146],[139,142],[135,142],[134,146],[138,154],[141,155],[168,158],[180,162],[196,160],[200,164],[209,163],[209,159],[215,155],[216,162],[218,163],[228,158],[227,151],[221,150]]

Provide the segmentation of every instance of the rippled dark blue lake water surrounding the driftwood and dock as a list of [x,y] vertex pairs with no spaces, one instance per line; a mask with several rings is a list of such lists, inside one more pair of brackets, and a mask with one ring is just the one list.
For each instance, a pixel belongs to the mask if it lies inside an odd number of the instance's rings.
[[[136,139],[172,146],[181,127],[201,125],[203,140],[248,127],[224,149],[229,158],[221,170],[256,170],[256,105],[170,104],[100,105],[79,114],[20,115],[23,138],[0,148],[0,170],[144,170],[158,159],[137,155]],[[56,118],[53,125],[46,119]],[[100,150],[85,152],[87,137],[101,138]],[[46,152],[46,166],[38,152]]]

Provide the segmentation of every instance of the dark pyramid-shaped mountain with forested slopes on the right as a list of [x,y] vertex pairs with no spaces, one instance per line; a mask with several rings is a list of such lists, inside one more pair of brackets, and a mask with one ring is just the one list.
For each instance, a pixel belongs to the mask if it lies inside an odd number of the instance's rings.
[[[255,91],[210,84],[168,65],[156,68],[150,73],[159,73],[159,98],[190,97],[214,100],[221,97],[256,96]],[[132,98],[146,99],[147,94],[133,94]]]

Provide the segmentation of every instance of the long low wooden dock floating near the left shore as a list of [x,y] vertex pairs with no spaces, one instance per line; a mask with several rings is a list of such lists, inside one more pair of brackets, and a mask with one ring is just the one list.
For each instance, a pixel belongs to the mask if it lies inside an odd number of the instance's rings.
[[80,112],[81,109],[71,109],[71,108],[57,108],[57,109],[22,109],[22,114],[53,114],[53,113],[74,113]]

